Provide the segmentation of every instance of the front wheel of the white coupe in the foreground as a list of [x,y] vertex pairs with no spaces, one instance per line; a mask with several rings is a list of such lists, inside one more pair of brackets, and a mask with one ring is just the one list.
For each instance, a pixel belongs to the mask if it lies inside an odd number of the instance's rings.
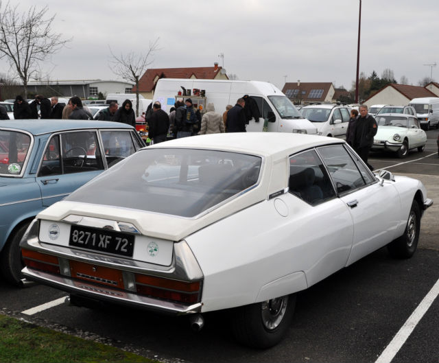
[[414,255],[418,247],[420,231],[420,209],[416,200],[410,208],[409,218],[405,226],[404,234],[394,239],[387,245],[388,251],[392,257],[407,259]]

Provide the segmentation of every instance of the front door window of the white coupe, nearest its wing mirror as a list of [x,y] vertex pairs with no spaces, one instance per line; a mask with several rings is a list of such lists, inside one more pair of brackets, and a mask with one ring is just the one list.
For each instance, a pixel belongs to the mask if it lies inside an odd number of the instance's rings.
[[318,148],[318,152],[327,165],[337,193],[353,191],[373,181],[364,165],[359,162],[359,159],[355,163],[343,145],[323,146]]

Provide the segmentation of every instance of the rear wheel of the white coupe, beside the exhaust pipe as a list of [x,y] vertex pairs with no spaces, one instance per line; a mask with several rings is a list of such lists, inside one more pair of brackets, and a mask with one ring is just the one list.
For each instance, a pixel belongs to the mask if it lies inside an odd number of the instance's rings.
[[235,338],[248,347],[273,347],[291,325],[295,305],[296,295],[292,294],[238,307],[232,318]]

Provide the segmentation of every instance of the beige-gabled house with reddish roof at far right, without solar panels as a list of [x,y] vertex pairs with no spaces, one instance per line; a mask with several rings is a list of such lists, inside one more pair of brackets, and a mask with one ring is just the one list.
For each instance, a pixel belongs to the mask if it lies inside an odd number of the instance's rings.
[[438,94],[433,93],[427,87],[390,83],[368,97],[363,103],[369,107],[373,104],[406,105],[418,97],[438,97]]

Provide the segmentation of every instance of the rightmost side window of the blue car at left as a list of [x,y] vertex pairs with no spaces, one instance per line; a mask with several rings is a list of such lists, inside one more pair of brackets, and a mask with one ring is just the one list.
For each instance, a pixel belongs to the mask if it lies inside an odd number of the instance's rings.
[[130,130],[101,131],[101,137],[108,167],[119,163],[119,161],[136,152]]

